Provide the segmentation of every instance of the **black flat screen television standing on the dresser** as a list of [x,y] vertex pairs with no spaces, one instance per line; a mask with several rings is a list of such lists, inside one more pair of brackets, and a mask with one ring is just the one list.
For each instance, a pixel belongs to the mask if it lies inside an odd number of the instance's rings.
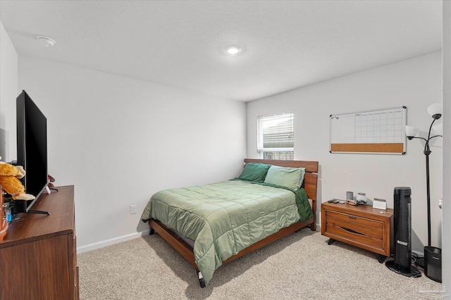
[[[19,212],[32,213],[32,205],[49,184],[47,173],[47,118],[25,91],[17,97],[17,165],[25,169],[21,179],[34,200],[23,203]],[[15,201],[16,202],[16,201]],[[44,212],[45,213],[45,212]]]

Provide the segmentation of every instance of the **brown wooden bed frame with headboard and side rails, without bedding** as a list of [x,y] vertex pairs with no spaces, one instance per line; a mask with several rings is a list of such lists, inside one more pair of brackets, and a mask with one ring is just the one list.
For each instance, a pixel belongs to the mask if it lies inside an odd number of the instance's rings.
[[[223,261],[223,264],[228,263],[230,261],[239,258],[245,254],[248,254],[251,251],[257,250],[262,246],[266,246],[282,237],[290,235],[292,232],[296,232],[297,230],[301,230],[302,228],[310,225],[310,229],[312,231],[316,231],[316,189],[318,184],[318,161],[275,161],[275,160],[264,160],[264,159],[245,159],[245,163],[267,163],[269,165],[279,165],[281,167],[291,167],[291,168],[305,168],[305,176],[304,182],[302,182],[302,187],[307,192],[307,196],[311,200],[311,208],[314,211],[314,217],[309,220],[303,222],[297,222],[288,227],[282,228],[278,232],[273,235],[269,235],[264,239],[261,239],[259,242],[252,244],[251,246],[242,249],[238,254],[228,258],[226,261]],[[150,235],[154,234],[154,232],[158,233],[168,244],[173,246],[173,248],[178,251],[187,261],[189,261],[194,268],[196,268],[199,273],[199,268],[194,261],[194,253],[192,251],[192,246],[187,244],[182,238],[172,232],[168,227],[163,225],[159,220],[150,219]],[[203,282],[203,278],[199,277],[199,282],[201,287],[205,287],[205,283]]]

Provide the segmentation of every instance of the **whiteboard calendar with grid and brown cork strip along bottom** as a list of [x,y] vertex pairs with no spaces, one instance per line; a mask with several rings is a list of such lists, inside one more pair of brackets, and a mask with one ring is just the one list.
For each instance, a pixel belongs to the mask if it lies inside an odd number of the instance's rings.
[[407,108],[330,115],[330,152],[404,154]]

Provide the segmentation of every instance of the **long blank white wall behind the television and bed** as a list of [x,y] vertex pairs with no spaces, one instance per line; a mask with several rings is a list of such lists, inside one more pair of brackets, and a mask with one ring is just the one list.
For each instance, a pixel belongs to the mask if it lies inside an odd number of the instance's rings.
[[148,230],[140,214],[160,189],[240,174],[242,102],[27,56],[19,87],[47,116],[49,174],[75,185],[80,251]]

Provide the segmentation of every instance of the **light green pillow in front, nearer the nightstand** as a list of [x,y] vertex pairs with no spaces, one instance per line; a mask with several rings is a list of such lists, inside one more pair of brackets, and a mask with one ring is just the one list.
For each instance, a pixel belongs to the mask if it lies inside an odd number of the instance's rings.
[[304,181],[304,175],[305,168],[285,168],[279,167],[278,165],[271,165],[264,182],[268,185],[299,189],[302,181]]

